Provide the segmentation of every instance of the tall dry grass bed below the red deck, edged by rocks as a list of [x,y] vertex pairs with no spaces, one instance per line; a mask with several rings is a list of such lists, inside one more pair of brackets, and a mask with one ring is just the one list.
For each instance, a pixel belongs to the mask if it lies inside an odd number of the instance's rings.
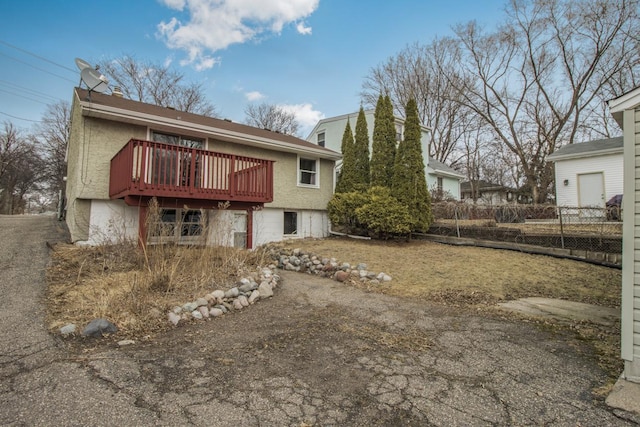
[[166,312],[255,272],[260,251],[131,244],[96,248],[57,245],[47,272],[48,325],[106,317],[125,335],[166,327]]

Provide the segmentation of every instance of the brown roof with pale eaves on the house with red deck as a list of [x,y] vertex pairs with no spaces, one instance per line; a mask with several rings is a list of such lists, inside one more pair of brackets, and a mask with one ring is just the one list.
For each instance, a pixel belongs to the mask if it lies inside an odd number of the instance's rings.
[[89,117],[152,126],[157,130],[176,132],[183,129],[194,136],[215,137],[223,141],[276,151],[309,154],[330,160],[342,158],[342,154],[336,151],[295,136],[234,123],[230,120],[206,117],[97,92],[91,92],[89,96],[89,91],[81,88],[75,88],[75,96],[82,106],[83,115]]

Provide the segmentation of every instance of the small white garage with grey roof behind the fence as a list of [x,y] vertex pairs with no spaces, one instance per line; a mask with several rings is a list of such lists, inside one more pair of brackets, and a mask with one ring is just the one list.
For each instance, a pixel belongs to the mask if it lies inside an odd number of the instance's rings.
[[555,163],[558,206],[604,208],[622,194],[622,137],[565,145],[547,159]]

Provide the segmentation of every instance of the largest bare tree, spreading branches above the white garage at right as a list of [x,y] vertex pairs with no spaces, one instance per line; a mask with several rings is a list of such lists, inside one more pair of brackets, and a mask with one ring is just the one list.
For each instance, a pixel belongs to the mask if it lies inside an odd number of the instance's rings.
[[517,156],[533,201],[544,202],[553,182],[546,157],[585,132],[597,94],[637,64],[638,1],[512,0],[507,13],[493,33],[473,22],[456,28],[465,78],[450,81]]

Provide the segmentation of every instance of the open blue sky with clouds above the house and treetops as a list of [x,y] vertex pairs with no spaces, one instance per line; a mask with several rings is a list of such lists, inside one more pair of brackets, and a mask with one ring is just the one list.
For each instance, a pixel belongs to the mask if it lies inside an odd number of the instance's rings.
[[[488,28],[505,0],[0,0],[0,122],[29,130],[89,64],[133,56],[199,83],[218,115],[250,103],[318,120],[357,111],[372,68],[414,43]],[[109,76],[106,76],[107,79]],[[110,90],[107,92],[110,93]]]

